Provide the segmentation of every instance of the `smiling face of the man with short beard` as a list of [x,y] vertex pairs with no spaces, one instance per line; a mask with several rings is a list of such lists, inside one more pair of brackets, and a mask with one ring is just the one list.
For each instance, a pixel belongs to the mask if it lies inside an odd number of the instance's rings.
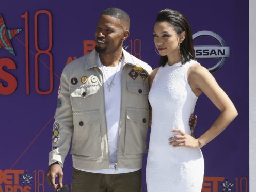
[[124,29],[121,20],[109,15],[101,15],[95,31],[98,53],[115,52],[122,46]]

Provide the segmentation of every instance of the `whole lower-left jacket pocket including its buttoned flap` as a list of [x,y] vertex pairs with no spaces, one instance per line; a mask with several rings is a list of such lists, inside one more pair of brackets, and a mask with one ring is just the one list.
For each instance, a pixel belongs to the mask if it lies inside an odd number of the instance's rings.
[[73,122],[71,154],[102,156],[100,111],[74,112]]

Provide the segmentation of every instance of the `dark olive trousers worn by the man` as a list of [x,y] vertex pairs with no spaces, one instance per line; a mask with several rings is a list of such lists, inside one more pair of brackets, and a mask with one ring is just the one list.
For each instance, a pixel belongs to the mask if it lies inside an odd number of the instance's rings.
[[121,174],[100,174],[73,168],[72,192],[140,192],[141,170]]

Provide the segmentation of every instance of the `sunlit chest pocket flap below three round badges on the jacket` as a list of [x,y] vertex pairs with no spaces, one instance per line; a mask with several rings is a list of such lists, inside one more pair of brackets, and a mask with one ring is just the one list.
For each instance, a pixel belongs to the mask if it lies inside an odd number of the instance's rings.
[[79,87],[71,87],[71,97],[87,98],[92,94],[97,93],[100,89],[99,85],[82,85]]

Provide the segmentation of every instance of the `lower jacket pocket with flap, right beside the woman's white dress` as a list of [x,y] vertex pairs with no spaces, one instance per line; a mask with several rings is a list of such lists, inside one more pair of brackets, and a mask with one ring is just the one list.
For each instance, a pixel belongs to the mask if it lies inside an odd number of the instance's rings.
[[127,108],[124,154],[146,151],[149,109]]

